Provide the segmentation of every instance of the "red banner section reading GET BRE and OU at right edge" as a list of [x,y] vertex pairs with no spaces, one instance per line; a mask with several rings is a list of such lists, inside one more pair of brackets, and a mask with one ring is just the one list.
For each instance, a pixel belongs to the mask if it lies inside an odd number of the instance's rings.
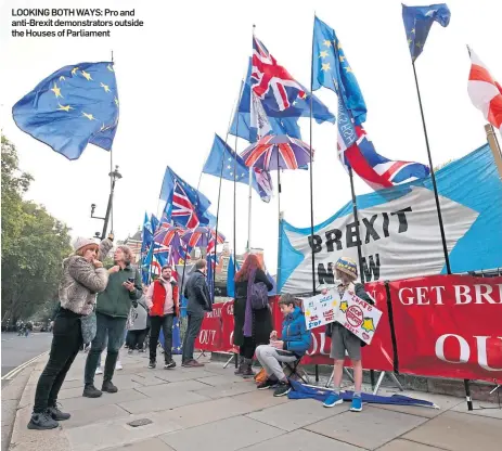
[[389,288],[401,373],[502,381],[502,278],[435,275]]

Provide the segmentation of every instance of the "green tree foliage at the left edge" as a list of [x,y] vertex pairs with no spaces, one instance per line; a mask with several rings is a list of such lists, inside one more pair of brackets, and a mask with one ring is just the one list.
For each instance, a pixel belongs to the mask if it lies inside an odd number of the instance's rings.
[[42,205],[23,198],[33,181],[2,136],[2,319],[29,318],[57,299],[69,229]]

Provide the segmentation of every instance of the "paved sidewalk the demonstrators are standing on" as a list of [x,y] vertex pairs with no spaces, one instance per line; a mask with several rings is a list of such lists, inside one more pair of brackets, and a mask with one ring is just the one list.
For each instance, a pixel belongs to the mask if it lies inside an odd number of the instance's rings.
[[[314,400],[273,398],[271,390],[258,391],[220,362],[182,369],[178,358],[175,370],[149,370],[146,355],[120,353],[124,370],[114,378],[119,391],[99,399],[81,396],[86,356],[78,356],[60,395],[72,418],[49,431],[26,428],[40,362],[23,394],[11,449],[472,451],[502,443],[502,411],[467,413],[460,398],[412,392],[441,409],[365,405],[352,413],[347,402],[325,409]],[[96,377],[98,387],[101,381]],[[149,424],[129,425],[137,420]]]

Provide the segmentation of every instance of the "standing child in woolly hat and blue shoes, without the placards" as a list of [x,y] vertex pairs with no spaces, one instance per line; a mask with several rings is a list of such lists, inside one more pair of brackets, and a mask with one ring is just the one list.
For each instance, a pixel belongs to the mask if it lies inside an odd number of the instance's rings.
[[[356,283],[358,279],[358,267],[355,261],[349,258],[342,257],[335,265],[336,279],[342,283],[337,286],[340,297],[348,289],[356,296],[365,300],[368,304],[374,305],[373,299],[364,291],[362,283]],[[324,291],[325,293],[325,291]],[[340,397],[340,385],[344,375],[345,351],[347,351],[353,366],[355,391],[352,398],[352,412],[362,411],[361,387],[362,387],[362,363],[361,363],[361,347],[365,346],[363,342],[342,324],[331,323],[326,326],[326,335],[331,336],[331,353],[330,357],[335,360],[333,373],[333,392],[324,401],[325,408],[332,408],[344,402]]]

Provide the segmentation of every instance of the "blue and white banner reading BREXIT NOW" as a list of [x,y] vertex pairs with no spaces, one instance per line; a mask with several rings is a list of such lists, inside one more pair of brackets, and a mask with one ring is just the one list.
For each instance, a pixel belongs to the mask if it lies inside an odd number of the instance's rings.
[[[502,265],[502,182],[489,145],[436,172],[452,272]],[[357,197],[365,282],[446,273],[430,178]],[[351,202],[314,227],[281,226],[282,293],[311,293],[312,253],[316,287],[333,283],[333,265],[358,260]]]

